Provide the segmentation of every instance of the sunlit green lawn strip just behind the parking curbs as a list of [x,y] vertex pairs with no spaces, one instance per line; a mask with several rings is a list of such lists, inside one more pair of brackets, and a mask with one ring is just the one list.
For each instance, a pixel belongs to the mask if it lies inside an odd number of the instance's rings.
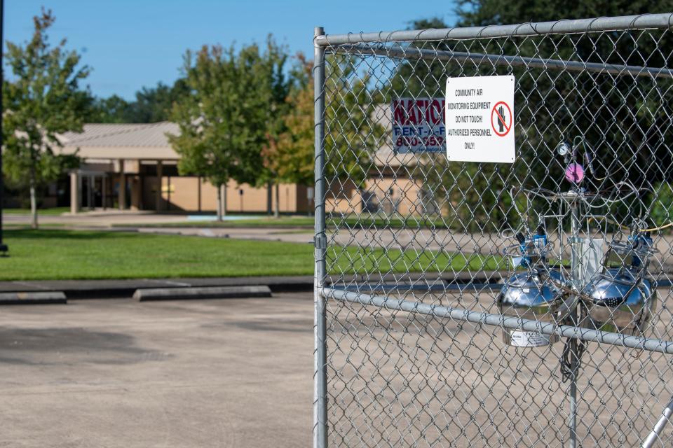
[[[313,274],[313,246],[131,232],[6,230],[8,258],[0,280],[135,279]],[[461,254],[331,248],[334,273],[447,272],[469,265],[496,269],[501,260]]]

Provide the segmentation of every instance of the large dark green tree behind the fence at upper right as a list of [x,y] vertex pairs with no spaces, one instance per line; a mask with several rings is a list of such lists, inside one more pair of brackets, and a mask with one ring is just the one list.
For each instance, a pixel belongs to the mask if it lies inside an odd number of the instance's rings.
[[[457,25],[668,13],[671,7],[670,0],[514,0],[508,2],[506,8],[495,0],[461,0]],[[491,46],[486,50],[656,68],[669,66],[667,48],[673,45],[673,35],[669,31],[605,32],[509,39],[501,43],[500,48]],[[658,163],[671,157],[667,145],[662,144],[673,138],[673,128],[669,126],[670,96],[663,93],[673,88],[671,80],[589,72],[571,75],[532,68],[512,69],[512,73],[517,76],[519,90],[530,92],[517,99],[517,109],[521,111],[519,120],[534,123],[534,126],[522,126],[523,139],[517,135],[517,141],[522,142],[522,156],[531,168],[526,181],[532,183],[534,177],[543,175],[552,179],[562,176],[563,167],[550,151],[539,150],[545,144],[554,146],[561,139],[571,141],[576,135],[585,137],[595,152],[593,165],[599,173],[586,181],[592,183],[592,190],[612,188],[613,179],[628,180],[648,190],[658,181],[673,181],[673,173],[662,170]]]

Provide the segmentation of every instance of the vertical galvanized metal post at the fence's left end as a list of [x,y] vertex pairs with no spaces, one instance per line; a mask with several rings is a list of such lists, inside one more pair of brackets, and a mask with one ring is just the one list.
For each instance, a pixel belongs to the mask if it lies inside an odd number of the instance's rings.
[[327,447],[327,321],[325,297],[320,291],[325,286],[325,48],[315,43],[315,37],[325,30],[315,27],[313,83],[315,103],[315,321],[313,369],[313,447]]

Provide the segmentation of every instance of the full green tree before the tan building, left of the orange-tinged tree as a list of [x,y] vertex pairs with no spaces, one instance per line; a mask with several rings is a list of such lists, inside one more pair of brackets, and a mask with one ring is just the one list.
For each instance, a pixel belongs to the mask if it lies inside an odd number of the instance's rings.
[[184,59],[190,94],[173,107],[180,134],[169,140],[181,156],[179,172],[203,176],[217,188],[221,220],[229,179],[254,184],[262,166],[267,73],[257,45],[238,53],[233,47],[204,46],[196,54],[186,52]]

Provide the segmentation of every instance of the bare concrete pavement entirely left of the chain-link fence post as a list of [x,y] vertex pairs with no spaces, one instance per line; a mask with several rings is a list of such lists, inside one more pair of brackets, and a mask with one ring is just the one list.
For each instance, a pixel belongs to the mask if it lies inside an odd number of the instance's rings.
[[313,301],[76,300],[0,314],[0,447],[311,444]]

